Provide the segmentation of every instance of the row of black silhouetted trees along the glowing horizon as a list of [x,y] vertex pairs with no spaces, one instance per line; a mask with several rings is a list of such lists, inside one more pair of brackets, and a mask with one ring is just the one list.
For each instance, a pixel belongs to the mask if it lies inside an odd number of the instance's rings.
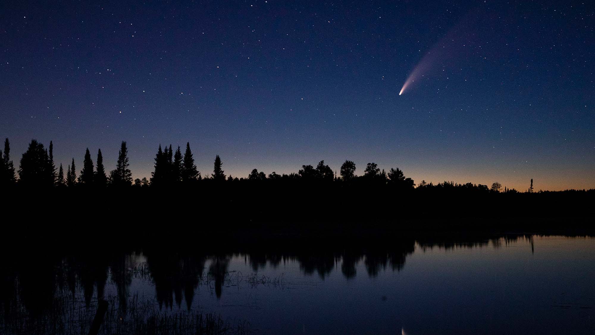
[[[201,175],[195,165],[190,142],[186,143],[184,154],[181,148],[173,149],[171,144],[161,147],[159,144],[155,155],[154,171],[151,172],[151,178],[136,178],[133,180],[130,170],[128,150],[126,141],[121,142],[120,151],[115,169],[106,173],[101,149],[98,149],[95,163],[93,162],[89,148],[86,149],[83,158],[83,168],[77,172],[74,157],[71,163],[67,165],[66,171],[62,163],[56,168],[54,162],[54,144],[49,142],[49,147],[45,148],[42,143],[32,139],[27,151],[23,153],[20,159],[18,170],[15,170],[14,163],[10,158],[10,142],[8,138],[4,141],[4,151],[0,150],[0,185],[20,187],[79,187],[79,188],[106,188],[106,187],[189,187],[196,185],[201,181],[215,182],[300,182],[306,184],[327,184],[343,183],[355,185],[388,185],[400,190],[413,190],[416,186],[413,179],[406,177],[399,168],[391,168],[386,171],[378,168],[376,163],[368,163],[364,170],[364,175],[355,175],[355,163],[346,160],[340,167],[339,174],[333,172],[324,160],[321,160],[317,166],[302,165],[297,173],[277,174],[271,172],[266,175],[253,169],[246,178],[234,178],[231,175],[226,176],[223,170],[221,158],[217,155],[214,161],[213,173],[211,175]],[[18,175],[18,179],[17,179]],[[494,182],[491,187],[481,184],[458,184],[451,181],[433,184],[421,181],[417,185],[417,190],[428,192],[439,191],[459,191],[466,193],[500,193],[502,184]],[[518,193],[515,189],[504,188],[504,193]],[[527,190],[533,192],[533,179],[531,186]]]

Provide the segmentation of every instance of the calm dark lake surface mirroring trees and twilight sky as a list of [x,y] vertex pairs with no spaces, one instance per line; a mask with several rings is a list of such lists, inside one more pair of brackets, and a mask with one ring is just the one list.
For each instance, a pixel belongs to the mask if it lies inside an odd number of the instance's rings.
[[210,315],[228,333],[595,334],[591,237],[224,250],[5,253],[0,333],[86,333],[99,296],[101,333],[184,333],[155,320]]

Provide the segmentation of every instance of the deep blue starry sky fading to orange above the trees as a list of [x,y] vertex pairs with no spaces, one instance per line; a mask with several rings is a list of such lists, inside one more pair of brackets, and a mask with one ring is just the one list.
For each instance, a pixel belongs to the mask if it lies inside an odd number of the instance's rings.
[[0,135],[107,170],[125,140],[134,178],[189,141],[203,175],[594,188],[594,59],[589,1],[3,1]]

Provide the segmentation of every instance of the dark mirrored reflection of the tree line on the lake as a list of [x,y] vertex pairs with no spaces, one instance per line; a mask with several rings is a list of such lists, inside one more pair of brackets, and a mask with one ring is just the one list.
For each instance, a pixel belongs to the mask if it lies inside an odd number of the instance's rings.
[[[230,269],[230,264],[233,259],[243,258],[254,272],[293,262],[306,276],[317,275],[325,280],[333,271],[340,271],[349,281],[359,275],[375,278],[383,271],[401,271],[416,247],[422,252],[499,249],[524,242],[530,243],[531,252],[534,252],[533,239],[533,235],[426,236],[374,241],[338,239],[311,244],[297,240],[257,246],[234,245],[227,250],[221,245],[201,249],[189,245],[110,252],[79,250],[72,255],[49,251],[5,253],[0,265],[0,309],[3,315],[0,325],[6,330],[6,327],[19,324],[24,311],[30,320],[52,320],[49,316],[62,311],[60,304],[64,304],[62,300],[68,296],[72,299],[82,296],[84,306],[93,309],[98,299],[104,299],[107,284],[116,288],[118,317],[126,317],[134,278],[152,283],[159,309],[180,309],[184,300],[184,307],[191,311],[196,292],[202,287],[214,290],[217,299],[221,298],[232,280],[230,271],[234,269]],[[366,274],[358,273],[358,268],[361,269],[358,265],[363,265]],[[21,321],[15,321],[18,318]]]

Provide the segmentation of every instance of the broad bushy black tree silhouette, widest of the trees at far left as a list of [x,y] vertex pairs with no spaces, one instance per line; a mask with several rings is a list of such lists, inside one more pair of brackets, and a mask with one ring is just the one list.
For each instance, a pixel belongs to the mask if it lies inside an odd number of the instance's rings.
[[21,163],[18,169],[20,178],[19,184],[26,187],[49,187],[52,186],[48,176],[51,173],[48,170],[48,151],[43,148],[43,144],[32,139],[29,148],[21,157]]

